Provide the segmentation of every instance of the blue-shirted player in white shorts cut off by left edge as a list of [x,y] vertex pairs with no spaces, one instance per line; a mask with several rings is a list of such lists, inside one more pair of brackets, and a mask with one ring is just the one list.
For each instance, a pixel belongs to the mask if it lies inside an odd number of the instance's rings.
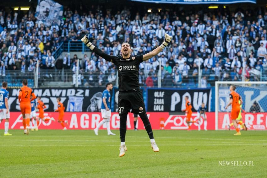
[[0,89],[0,123],[3,119],[5,119],[4,136],[11,136],[12,134],[8,133],[10,112],[8,108],[9,92],[7,91],[7,87],[8,83],[3,82],[2,88]]

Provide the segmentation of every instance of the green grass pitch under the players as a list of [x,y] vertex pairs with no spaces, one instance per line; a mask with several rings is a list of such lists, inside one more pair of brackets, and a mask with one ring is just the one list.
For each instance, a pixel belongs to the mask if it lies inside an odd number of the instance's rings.
[[[154,153],[144,130],[126,132],[128,151],[119,157],[119,131],[39,130],[24,135],[0,130],[0,177],[267,177],[267,132],[154,131]],[[253,161],[222,166],[219,161]]]

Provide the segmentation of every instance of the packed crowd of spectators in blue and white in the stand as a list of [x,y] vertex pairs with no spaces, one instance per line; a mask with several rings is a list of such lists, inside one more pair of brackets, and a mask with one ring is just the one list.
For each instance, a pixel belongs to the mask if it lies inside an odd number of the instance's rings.
[[[186,10],[137,12],[127,8],[104,10],[92,6],[72,11],[65,8],[60,25],[46,26],[29,11],[22,18],[14,12],[0,12],[0,74],[5,70],[34,71],[39,60],[41,69],[55,68],[53,51],[63,41],[80,41],[88,35],[90,41],[110,55],[119,55],[123,41],[132,46],[133,55],[145,54],[159,46],[167,33],[172,42],[160,54],[139,66],[139,83],[157,86],[161,71],[162,86],[198,83],[201,86],[215,80],[257,81],[267,70],[267,11],[226,9],[201,10],[188,14]],[[64,68],[76,71],[79,66],[81,84],[89,86],[115,82],[116,67],[91,53],[77,65],[77,55],[66,55]],[[161,67],[159,66],[161,61]],[[95,84],[94,77],[98,78]],[[264,74],[262,75],[264,76]]]

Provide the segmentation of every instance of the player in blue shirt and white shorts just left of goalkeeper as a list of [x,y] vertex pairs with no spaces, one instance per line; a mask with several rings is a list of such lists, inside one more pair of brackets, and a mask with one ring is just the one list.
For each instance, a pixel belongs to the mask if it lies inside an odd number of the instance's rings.
[[101,105],[101,116],[103,120],[99,122],[99,124],[94,129],[95,135],[98,135],[98,129],[103,124],[106,124],[106,130],[108,135],[116,135],[110,131],[110,117],[111,117],[111,110],[110,110],[110,91],[112,90],[113,85],[111,83],[106,84],[106,89],[102,93],[102,105]]

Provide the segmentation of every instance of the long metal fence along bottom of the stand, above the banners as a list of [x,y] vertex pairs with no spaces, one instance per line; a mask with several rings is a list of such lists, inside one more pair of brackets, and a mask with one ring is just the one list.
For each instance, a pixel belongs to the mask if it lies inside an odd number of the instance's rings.
[[[255,69],[256,70],[256,69]],[[267,81],[267,70],[262,69],[261,71],[252,70],[249,72],[249,78],[245,78],[245,81]],[[226,78],[228,73],[229,78]],[[154,75],[156,74],[156,76]],[[188,71],[187,76],[179,74],[179,76],[173,76],[172,74],[162,74],[161,77],[158,71],[152,74],[151,79],[153,80],[153,86],[147,86],[148,74],[139,75],[139,84],[141,87],[160,87],[160,88],[198,88],[203,86],[201,79],[205,74],[200,73],[200,76],[193,75],[193,70]],[[114,76],[116,77],[114,77]],[[35,76],[38,76],[38,81],[35,80]],[[235,71],[222,71],[220,76],[215,76],[211,73],[206,76],[206,87],[215,86],[215,81],[243,81],[242,75],[235,73]],[[236,78],[235,78],[236,76]],[[105,74],[100,71],[89,72],[80,70],[78,75],[71,69],[40,69],[38,75],[35,71],[26,70],[22,73],[20,70],[6,70],[5,75],[0,76],[2,81],[7,81],[9,87],[19,87],[23,79],[28,79],[30,87],[105,87],[108,82],[113,83],[117,86],[117,71],[111,74],[107,71]],[[76,79],[78,78],[78,80]],[[161,78],[161,85],[159,85],[158,78]],[[199,84],[200,83],[200,84]],[[38,85],[36,85],[38,84]],[[150,83],[151,85],[151,83]],[[202,85],[202,86],[201,86]]]

